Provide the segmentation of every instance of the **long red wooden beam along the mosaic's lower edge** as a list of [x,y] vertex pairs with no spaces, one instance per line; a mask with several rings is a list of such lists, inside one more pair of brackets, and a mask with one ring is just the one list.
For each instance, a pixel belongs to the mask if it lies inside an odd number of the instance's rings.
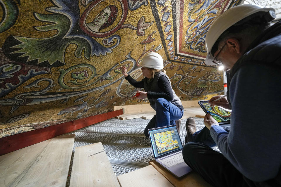
[[122,109],[0,138],[0,155],[88,127],[121,114],[123,114]]

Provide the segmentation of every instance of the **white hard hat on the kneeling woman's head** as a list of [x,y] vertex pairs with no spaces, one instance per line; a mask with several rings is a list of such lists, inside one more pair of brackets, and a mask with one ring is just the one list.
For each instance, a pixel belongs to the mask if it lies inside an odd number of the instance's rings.
[[158,53],[148,53],[143,57],[143,61],[139,63],[142,67],[150,67],[156,70],[162,70],[164,68],[163,58]]

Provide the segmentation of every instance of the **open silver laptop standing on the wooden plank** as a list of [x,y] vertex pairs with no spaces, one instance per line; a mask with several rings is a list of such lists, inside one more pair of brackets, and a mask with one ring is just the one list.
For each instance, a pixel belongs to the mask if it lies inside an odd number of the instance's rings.
[[177,177],[182,177],[192,169],[182,157],[182,143],[176,125],[148,129],[155,161]]

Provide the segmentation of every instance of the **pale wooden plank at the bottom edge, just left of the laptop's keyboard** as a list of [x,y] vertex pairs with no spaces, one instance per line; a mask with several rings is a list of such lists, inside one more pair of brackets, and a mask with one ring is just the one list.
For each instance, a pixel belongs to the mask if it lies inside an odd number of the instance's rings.
[[165,177],[151,165],[119,175],[117,178],[122,187],[174,187],[172,183],[165,179]]

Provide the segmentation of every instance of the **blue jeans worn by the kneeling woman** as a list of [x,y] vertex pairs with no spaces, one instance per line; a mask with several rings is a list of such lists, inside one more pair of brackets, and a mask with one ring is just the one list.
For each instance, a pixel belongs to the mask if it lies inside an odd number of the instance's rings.
[[175,120],[181,119],[184,111],[164,98],[159,98],[155,102],[156,115],[145,127],[144,135],[148,137],[148,129],[164,127],[176,124]]

